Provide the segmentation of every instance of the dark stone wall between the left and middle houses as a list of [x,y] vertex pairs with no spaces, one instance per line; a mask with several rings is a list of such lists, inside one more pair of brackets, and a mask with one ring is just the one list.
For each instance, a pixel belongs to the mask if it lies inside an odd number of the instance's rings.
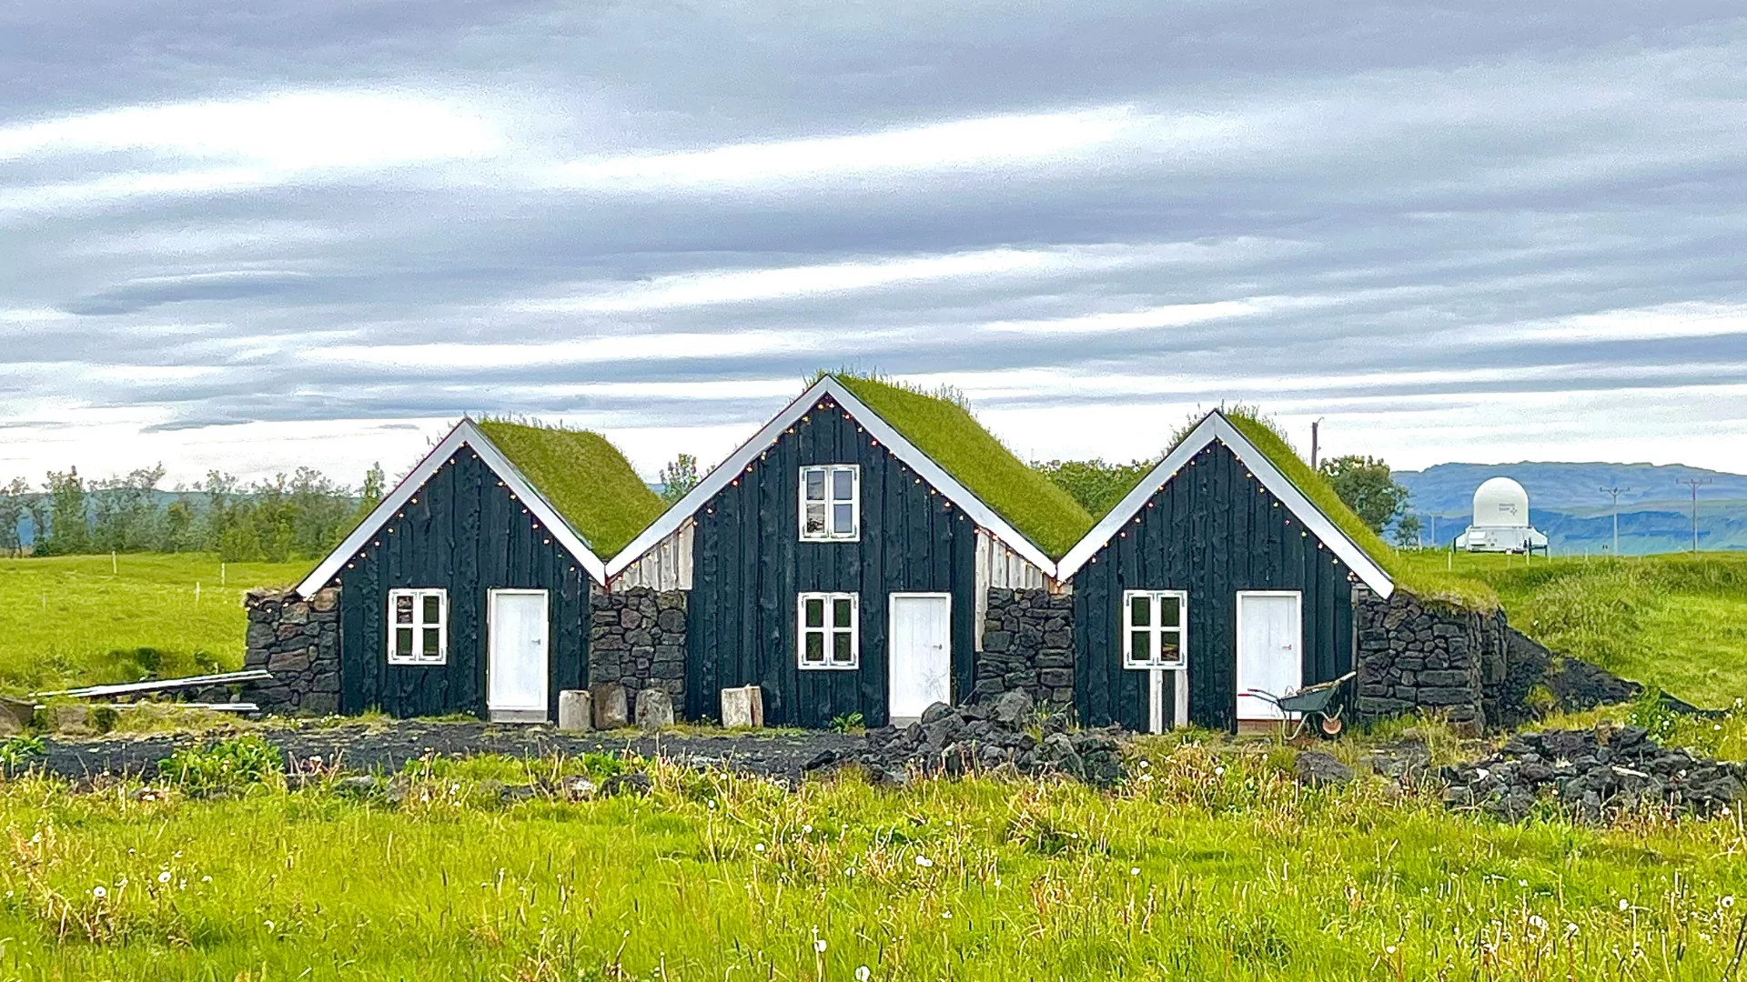
[[617,681],[629,706],[645,688],[685,699],[685,591],[631,587],[589,598],[589,683]]

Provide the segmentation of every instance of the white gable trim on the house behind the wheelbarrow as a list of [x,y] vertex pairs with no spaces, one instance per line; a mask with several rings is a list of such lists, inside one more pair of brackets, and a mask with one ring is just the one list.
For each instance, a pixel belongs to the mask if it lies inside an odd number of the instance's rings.
[[1284,503],[1286,508],[1305,524],[1305,528],[1314,531],[1317,538],[1321,538],[1322,543],[1347,564],[1349,570],[1357,573],[1364,585],[1377,591],[1377,596],[1387,598],[1394,592],[1396,585],[1394,580],[1389,578],[1389,573],[1384,573],[1382,566],[1359,549],[1359,543],[1352,542],[1347,533],[1340,531],[1340,528],[1322,514],[1322,508],[1317,508],[1310,498],[1305,498],[1303,493],[1298,491],[1298,486],[1281,474],[1281,470],[1274,467],[1274,461],[1256,449],[1256,444],[1251,444],[1249,439],[1244,437],[1244,433],[1239,432],[1239,428],[1233,426],[1232,421],[1221,412],[1209,412],[1207,418],[1202,419],[1181,444],[1165,454],[1165,460],[1158,461],[1158,465],[1146,474],[1146,479],[1134,486],[1134,491],[1129,491],[1129,494],[1123,496],[1123,500],[1118,501],[1099,524],[1092,526],[1092,531],[1069,549],[1067,556],[1062,556],[1055,575],[1066,580],[1080,571],[1080,568],[1085,566],[1099,549],[1104,549],[1104,543],[1109,542],[1127,521],[1146,507],[1146,501],[1150,501],[1167,481],[1176,477],[1190,458],[1198,454],[1214,440],[1230,447],[1232,453],[1244,461],[1244,467],[1256,475],[1256,481],[1260,481],[1270,494],[1279,498],[1281,503]]

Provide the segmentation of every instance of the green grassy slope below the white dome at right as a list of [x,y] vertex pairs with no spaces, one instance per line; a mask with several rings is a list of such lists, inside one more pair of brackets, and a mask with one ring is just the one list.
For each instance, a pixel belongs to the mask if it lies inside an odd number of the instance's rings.
[[1702,706],[1747,697],[1747,552],[1405,556],[1492,584],[1511,624],[1553,650]]

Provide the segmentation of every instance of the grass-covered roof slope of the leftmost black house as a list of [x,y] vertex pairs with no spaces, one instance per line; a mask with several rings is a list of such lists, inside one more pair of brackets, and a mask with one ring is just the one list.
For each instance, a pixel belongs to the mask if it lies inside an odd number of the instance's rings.
[[479,428],[596,556],[613,556],[667,508],[599,433],[507,419]]

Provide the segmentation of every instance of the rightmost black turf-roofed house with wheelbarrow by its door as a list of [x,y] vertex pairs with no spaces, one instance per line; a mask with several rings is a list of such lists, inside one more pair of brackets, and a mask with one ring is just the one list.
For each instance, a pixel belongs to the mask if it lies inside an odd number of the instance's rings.
[[1354,605],[1387,547],[1267,425],[1209,412],[1059,563],[1083,723],[1277,720],[1267,701],[1354,669]]

